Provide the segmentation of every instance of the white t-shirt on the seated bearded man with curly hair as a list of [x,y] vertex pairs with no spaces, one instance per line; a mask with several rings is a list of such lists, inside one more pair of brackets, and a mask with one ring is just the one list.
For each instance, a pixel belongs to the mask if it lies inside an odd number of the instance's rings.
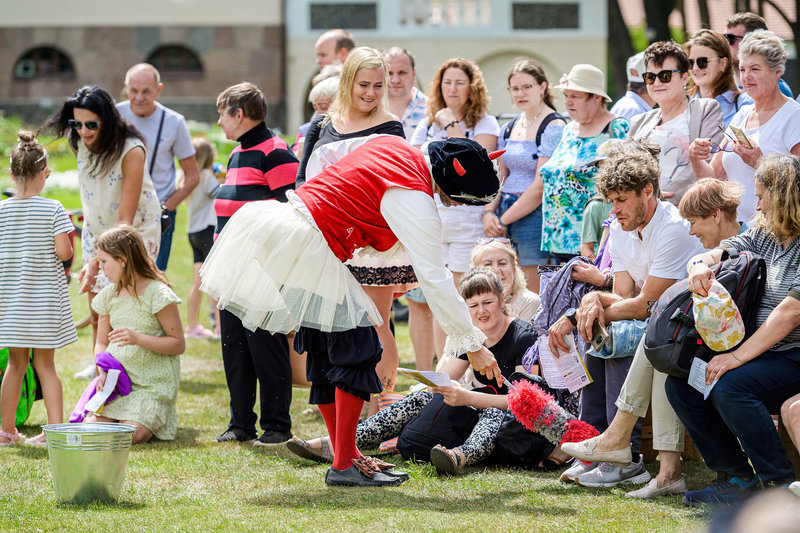
[[638,230],[625,231],[616,220],[611,224],[611,265],[614,273],[627,272],[641,289],[647,276],[664,279],[686,277],[686,263],[702,253],[700,241],[689,235],[689,222],[678,208],[659,202],[653,218],[639,236]]

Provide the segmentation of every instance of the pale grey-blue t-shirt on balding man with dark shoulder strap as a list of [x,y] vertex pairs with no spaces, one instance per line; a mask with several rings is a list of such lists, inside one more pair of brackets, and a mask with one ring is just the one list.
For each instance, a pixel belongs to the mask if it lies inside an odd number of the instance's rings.
[[164,126],[161,128],[161,142],[158,143],[158,154],[156,154],[156,161],[151,173],[158,200],[163,203],[175,192],[175,158],[180,160],[194,155],[192,137],[186,127],[186,120],[180,113],[166,108],[158,102],[156,102],[156,110],[148,117],[134,115],[128,101],[118,103],[117,109],[122,118],[136,126],[136,129],[144,136],[144,147],[147,150],[147,159],[144,164],[148,170],[153,157],[153,148],[156,145],[161,113],[165,113]]

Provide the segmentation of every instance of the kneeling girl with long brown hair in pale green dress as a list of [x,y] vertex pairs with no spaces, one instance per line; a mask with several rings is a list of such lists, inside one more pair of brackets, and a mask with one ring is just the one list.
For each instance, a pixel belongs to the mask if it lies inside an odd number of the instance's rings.
[[[133,442],[175,438],[178,428],[178,382],[184,338],[178,298],[147,254],[139,232],[121,224],[95,242],[95,255],[111,285],[92,301],[99,315],[95,353],[109,352],[131,379],[131,392],[87,422],[136,426]],[[97,390],[106,372],[97,368]]]

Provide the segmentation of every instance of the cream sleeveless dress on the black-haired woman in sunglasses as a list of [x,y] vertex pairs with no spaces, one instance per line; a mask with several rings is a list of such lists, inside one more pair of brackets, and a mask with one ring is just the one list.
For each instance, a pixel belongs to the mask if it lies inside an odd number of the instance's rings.
[[[137,146],[144,149],[144,144],[139,139],[129,137],[125,141],[122,154],[114,162],[111,170],[101,175],[96,169],[91,168],[89,149],[82,140],[78,141],[78,184],[81,189],[81,207],[83,208],[81,251],[84,261],[94,259],[94,243],[97,237],[105,230],[117,225],[117,212],[120,198],[122,198],[122,160],[125,158],[125,154]],[[161,243],[161,203],[158,201],[146,165],[142,177],[142,192],[139,194],[139,203],[136,206],[136,214],[133,216],[133,226],[139,230],[139,234],[144,240],[147,255],[155,259]],[[108,283],[108,279],[101,270],[92,291],[98,292]]]

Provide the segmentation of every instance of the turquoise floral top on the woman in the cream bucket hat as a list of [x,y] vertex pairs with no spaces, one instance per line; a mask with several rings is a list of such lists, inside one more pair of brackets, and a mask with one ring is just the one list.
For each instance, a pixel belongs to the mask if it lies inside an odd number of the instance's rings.
[[580,253],[583,210],[597,193],[597,166],[593,164],[597,148],[608,139],[627,136],[630,124],[615,118],[593,137],[579,137],[577,129],[576,122],[564,128],[555,152],[539,169],[544,184],[542,251]]

